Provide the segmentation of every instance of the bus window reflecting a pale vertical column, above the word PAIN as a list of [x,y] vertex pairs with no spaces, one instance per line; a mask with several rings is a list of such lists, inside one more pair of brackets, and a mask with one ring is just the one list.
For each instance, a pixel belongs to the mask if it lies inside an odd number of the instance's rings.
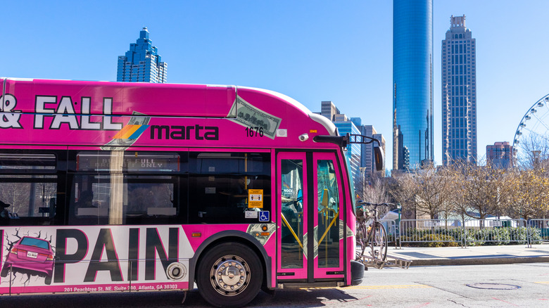
[[75,158],[70,224],[184,222],[187,153],[85,150]]

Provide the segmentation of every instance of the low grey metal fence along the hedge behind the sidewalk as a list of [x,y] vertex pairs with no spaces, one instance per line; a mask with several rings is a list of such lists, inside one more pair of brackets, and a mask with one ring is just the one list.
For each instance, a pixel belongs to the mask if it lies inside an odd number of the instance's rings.
[[531,245],[549,240],[547,226],[549,219],[532,219],[530,224],[524,219],[403,219],[398,227],[398,245]]

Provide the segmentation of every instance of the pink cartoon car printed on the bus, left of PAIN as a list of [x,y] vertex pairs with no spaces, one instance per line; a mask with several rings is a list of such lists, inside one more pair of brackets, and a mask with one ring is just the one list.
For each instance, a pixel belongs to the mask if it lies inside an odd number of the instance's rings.
[[8,276],[10,267],[12,271],[44,276],[45,283],[49,285],[53,273],[53,249],[49,241],[24,236],[6,256],[0,276]]

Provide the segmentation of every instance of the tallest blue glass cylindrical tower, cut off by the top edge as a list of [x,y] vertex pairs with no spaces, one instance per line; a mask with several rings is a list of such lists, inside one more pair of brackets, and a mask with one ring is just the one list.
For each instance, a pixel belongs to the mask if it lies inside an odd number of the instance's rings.
[[433,161],[433,1],[393,1],[393,169]]

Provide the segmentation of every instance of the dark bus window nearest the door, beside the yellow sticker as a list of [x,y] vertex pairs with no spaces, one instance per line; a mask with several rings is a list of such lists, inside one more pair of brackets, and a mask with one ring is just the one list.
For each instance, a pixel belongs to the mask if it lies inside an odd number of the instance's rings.
[[[269,153],[190,153],[189,223],[240,224],[250,210],[270,210]],[[263,193],[263,207],[248,203]]]

